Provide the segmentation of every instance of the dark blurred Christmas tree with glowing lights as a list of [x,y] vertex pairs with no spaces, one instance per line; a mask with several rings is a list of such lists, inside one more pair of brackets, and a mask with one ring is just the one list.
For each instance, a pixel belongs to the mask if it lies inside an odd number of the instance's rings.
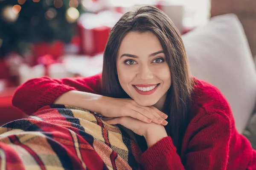
[[70,42],[81,11],[78,0],[0,0],[0,57],[23,55],[32,43]]

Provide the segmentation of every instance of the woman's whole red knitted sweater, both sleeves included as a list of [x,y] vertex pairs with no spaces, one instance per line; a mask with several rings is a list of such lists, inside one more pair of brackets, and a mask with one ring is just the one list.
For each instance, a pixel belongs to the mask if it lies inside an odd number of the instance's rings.
[[[67,91],[101,94],[100,80],[100,74],[87,78],[31,79],[17,89],[12,103],[32,114]],[[214,86],[201,80],[197,82],[181,155],[177,155],[171,137],[165,137],[141,156],[145,169],[256,170],[256,151],[237,132],[227,100]]]

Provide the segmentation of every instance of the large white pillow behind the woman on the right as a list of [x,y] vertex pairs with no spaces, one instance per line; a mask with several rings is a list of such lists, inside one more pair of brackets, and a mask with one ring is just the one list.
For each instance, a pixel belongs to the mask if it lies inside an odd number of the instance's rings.
[[213,17],[185,34],[183,42],[192,74],[220,89],[242,133],[256,103],[256,71],[239,19],[235,14]]

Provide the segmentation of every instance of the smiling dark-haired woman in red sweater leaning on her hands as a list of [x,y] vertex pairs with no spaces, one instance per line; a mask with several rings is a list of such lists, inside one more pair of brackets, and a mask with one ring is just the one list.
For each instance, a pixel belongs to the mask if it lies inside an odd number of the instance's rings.
[[13,97],[28,114],[52,103],[132,130],[145,169],[256,169],[256,152],[237,132],[227,100],[191,77],[180,34],[151,6],[124,14],[112,28],[102,75],[32,79]]

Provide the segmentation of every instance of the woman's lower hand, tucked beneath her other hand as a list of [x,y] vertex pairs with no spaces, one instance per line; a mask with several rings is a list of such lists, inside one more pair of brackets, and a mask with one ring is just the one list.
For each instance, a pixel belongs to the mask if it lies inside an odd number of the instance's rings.
[[[103,119],[104,120],[104,119]],[[148,147],[151,147],[164,137],[168,136],[163,125],[155,124],[154,122],[145,123],[132,117],[118,117],[105,120],[110,125],[122,125],[134,133],[144,136]]]

